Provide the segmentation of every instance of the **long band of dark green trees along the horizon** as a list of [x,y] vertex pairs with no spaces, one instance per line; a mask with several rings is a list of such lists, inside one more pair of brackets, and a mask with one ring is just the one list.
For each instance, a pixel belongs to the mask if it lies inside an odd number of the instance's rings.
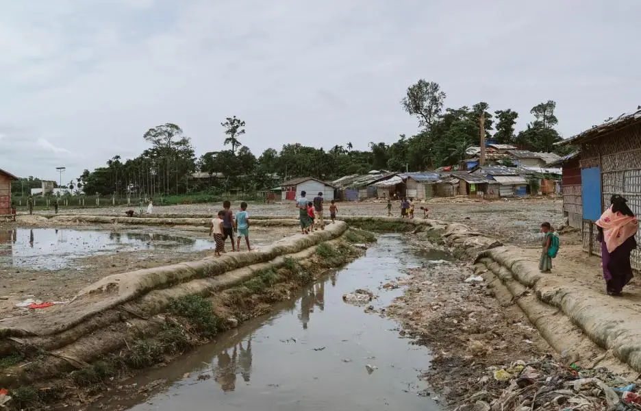
[[[152,127],[143,138],[149,148],[138,157],[124,160],[116,155],[106,166],[85,170],[70,188],[81,188],[87,195],[134,195],[140,197],[176,195],[203,190],[262,190],[282,179],[317,177],[331,180],[344,175],[367,173],[372,169],[423,171],[458,164],[469,147],[478,146],[481,116],[487,140],[516,145],[531,151],[556,151],[562,138],[556,131],[556,103],[544,101],[530,110],[532,119],[525,129],[515,131],[518,113],[510,108],[490,112],[486,102],[445,108],[447,95],[439,84],[420,79],[407,88],[401,108],[416,116],[416,134],[392,143],[369,142],[368,149],[353,144],[336,145],[329,150],[300,143],[286,144],[279,151],[270,148],[256,157],[242,144],[246,124],[236,116],[227,117],[221,151],[196,157],[191,139],[179,125],[166,123]],[[563,153],[561,153],[563,154]],[[199,171],[208,178],[192,177]]]

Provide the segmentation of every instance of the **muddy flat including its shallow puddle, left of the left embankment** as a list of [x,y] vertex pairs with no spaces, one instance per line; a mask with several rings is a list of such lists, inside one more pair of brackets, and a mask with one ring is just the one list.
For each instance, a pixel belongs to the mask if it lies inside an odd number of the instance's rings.
[[[260,249],[296,233],[296,227],[252,227],[251,244]],[[21,301],[68,301],[102,277],[209,258],[215,247],[206,227],[189,226],[18,223],[0,227],[0,239],[0,319],[29,314],[15,307]]]

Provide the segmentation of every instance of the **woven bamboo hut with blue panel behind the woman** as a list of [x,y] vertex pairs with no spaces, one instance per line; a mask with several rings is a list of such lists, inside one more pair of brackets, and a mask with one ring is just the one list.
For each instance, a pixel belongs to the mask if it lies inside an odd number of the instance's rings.
[[[601,255],[594,221],[609,207],[614,194],[623,195],[637,216],[641,213],[641,109],[621,114],[564,142],[580,148],[583,249]],[[641,238],[637,234],[637,241]],[[632,251],[641,269],[641,251]]]

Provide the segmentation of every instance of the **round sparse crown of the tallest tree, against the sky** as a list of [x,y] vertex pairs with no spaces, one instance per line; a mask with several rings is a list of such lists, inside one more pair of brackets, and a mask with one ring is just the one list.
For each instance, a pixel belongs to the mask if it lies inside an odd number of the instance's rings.
[[445,97],[447,95],[441,91],[438,83],[420,79],[407,88],[401,106],[412,116],[418,117],[419,127],[429,130],[443,110]]

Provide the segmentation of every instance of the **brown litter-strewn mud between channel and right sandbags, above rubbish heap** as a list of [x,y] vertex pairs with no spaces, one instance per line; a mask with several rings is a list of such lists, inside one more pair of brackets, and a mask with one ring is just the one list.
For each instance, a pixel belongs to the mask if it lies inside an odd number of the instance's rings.
[[553,352],[516,304],[502,305],[482,281],[466,282],[473,277],[470,264],[428,262],[408,274],[396,284],[407,286],[405,293],[387,314],[401,323],[402,334],[433,352],[422,377],[431,397],[449,408],[481,389],[504,388],[488,377],[491,367]]

